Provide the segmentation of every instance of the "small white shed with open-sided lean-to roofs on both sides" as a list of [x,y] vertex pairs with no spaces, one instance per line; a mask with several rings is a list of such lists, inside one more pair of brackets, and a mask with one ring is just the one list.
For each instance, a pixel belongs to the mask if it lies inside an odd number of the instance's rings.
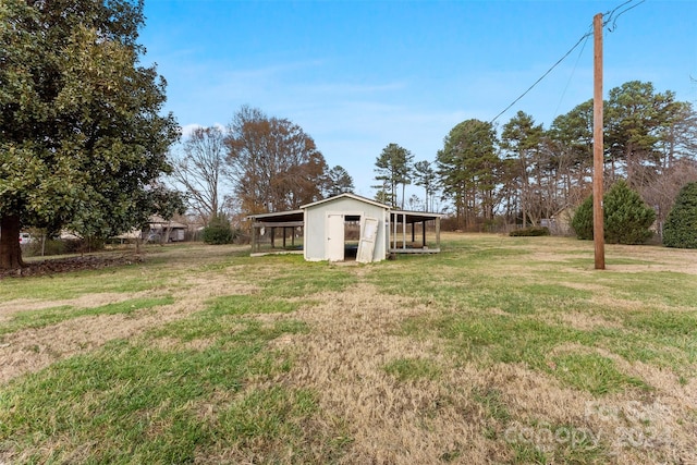
[[[370,262],[384,260],[390,254],[440,252],[440,215],[392,210],[388,205],[355,194],[318,200],[298,210],[247,218],[253,221],[253,255],[264,254],[262,244],[270,245],[268,253],[302,252],[308,261],[344,261],[355,257],[356,261]],[[430,243],[427,241],[429,224],[435,236]],[[280,247],[276,245],[277,231],[281,232]],[[302,231],[302,245],[296,246],[298,231]]]

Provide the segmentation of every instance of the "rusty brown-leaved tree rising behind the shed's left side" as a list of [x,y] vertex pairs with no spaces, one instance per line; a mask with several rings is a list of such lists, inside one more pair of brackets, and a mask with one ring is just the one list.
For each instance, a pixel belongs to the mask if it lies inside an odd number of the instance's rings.
[[321,198],[327,162],[298,125],[245,106],[229,125],[225,143],[243,211],[283,211]]

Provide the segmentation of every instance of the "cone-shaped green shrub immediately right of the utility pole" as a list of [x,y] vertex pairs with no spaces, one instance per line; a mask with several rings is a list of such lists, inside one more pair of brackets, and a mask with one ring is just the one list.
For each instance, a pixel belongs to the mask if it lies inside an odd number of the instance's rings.
[[606,241],[612,244],[644,244],[653,233],[649,230],[656,211],[629,188],[617,181],[603,197]]

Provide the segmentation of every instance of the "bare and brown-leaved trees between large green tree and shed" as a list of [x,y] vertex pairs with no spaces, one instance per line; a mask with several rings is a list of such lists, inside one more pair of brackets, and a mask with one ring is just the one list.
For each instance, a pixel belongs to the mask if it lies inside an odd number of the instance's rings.
[[248,106],[227,126],[195,129],[170,152],[170,162],[172,183],[204,223],[221,213],[295,210],[354,191],[346,170],[329,168],[302,127]]

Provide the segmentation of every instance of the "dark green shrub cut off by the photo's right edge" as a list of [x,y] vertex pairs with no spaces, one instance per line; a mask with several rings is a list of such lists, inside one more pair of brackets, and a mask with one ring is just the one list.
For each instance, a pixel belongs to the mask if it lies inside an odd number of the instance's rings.
[[663,227],[663,245],[697,248],[697,182],[680,189]]

